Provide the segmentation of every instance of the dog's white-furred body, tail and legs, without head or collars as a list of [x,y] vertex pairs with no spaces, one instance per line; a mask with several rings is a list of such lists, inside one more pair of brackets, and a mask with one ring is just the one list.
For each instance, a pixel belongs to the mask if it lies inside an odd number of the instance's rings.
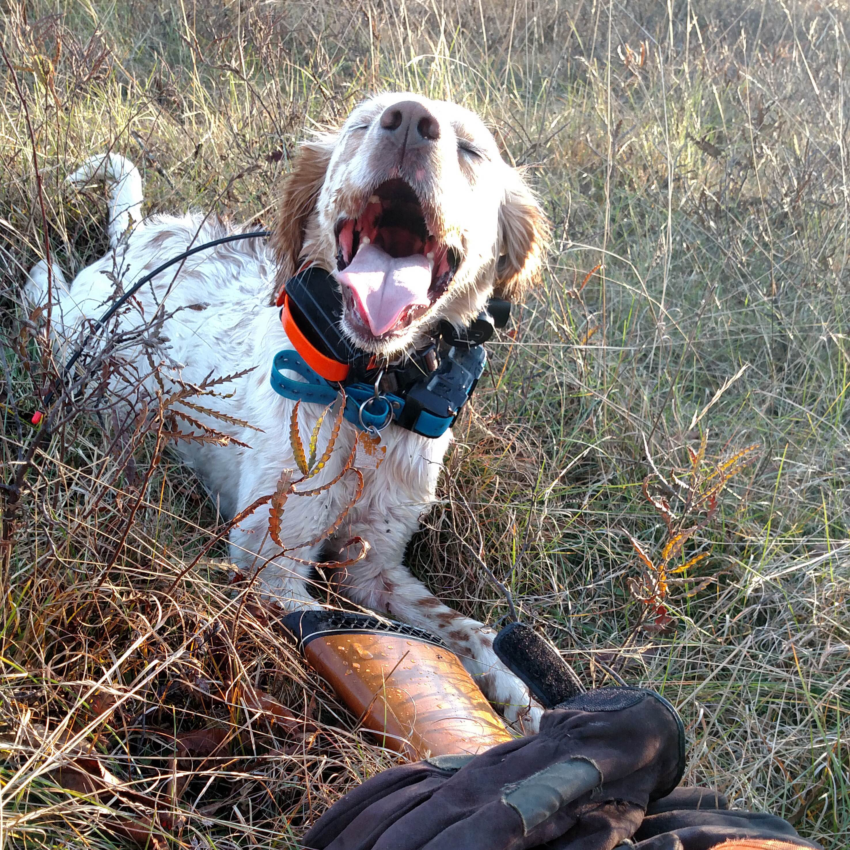
[[[121,277],[126,290],[133,280],[190,244],[200,245],[228,232],[220,222],[205,221],[199,214],[143,220],[141,178],[122,156],[92,157],[69,180],[79,184],[89,178],[105,178],[110,184],[113,250],[83,269],[71,286],[65,284],[59,269],[54,269],[58,301],[53,326],[58,343],[76,339],[84,319],[104,312],[114,292],[109,275]],[[220,513],[230,517],[273,492],[281,470],[296,466],[289,442],[293,403],[275,394],[269,385],[272,358],[281,348],[292,348],[280,326],[278,309],[268,306],[269,292],[275,286],[275,257],[263,240],[240,241],[201,252],[178,272],[175,269],[161,273],[139,290],[132,309],[122,314],[121,327],[138,326],[165,305],[170,318],[165,321],[163,335],[169,340],[167,357],[173,361],[163,369],[165,377],[175,374],[185,382],[196,383],[210,373],[222,376],[254,367],[226,385],[228,398],[202,399],[204,404],[216,405],[229,416],[261,428],[258,432],[205,420],[252,448],[184,442],[177,446]],[[46,281],[46,266],[39,263],[26,285],[31,303],[44,302]],[[203,309],[178,310],[197,304],[204,305]],[[150,378],[147,388],[156,392]],[[319,405],[302,405],[303,433],[313,428],[320,410]],[[321,429],[320,446],[330,431],[329,419]],[[354,438],[354,427],[343,422],[337,450],[327,467],[311,480],[311,486],[337,475]],[[335,586],[357,604],[439,633],[510,720],[521,717],[526,730],[536,729],[541,709],[530,703],[524,684],[497,660],[492,650],[493,630],[440,603],[402,565],[405,546],[420,516],[433,502],[450,433],[426,439],[390,426],[383,431],[382,439],[387,446],[386,458],[377,470],[364,473],[363,496],[331,541],[341,547],[351,537],[360,536],[369,541],[370,550],[347,574],[335,577]],[[353,487],[354,476],[349,473],[320,496],[290,497],[281,531],[285,546],[297,547],[326,528],[349,501]],[[308,592],[309,569],[280,555],[280,547],[269,538],[268,521],[268,510],[263,507],[231,532],[233,560],[245,570],[262,570],[265,592],[286,608],[317,607]],[[320,558],[320,549],[301,548],[294,554],[315,559]]]

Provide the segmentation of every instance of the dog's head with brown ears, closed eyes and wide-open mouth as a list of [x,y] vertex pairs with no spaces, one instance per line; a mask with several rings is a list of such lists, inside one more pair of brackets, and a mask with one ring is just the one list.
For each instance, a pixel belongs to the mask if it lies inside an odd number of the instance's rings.
[[478,116],[382,94],[301,146],[275,230],[278,286],[303,262],[333,272],[345,334],[394,356],[441,319],[466,324],[494,291],[521,296],[540,275],[546,235]]

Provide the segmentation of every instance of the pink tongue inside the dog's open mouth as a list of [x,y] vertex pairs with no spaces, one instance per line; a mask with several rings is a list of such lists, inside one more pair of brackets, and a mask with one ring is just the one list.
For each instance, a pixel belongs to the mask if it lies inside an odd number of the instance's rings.
[[371,332],[391,331],[411,307],[428,307],[431,265],[422,254],[390,257],[376,245],[363,245],[337,280],[354,294]]

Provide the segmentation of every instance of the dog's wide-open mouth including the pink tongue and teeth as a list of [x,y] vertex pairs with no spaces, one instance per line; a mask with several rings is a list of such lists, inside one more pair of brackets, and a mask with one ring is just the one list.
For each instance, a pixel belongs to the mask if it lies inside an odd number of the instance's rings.
[[392,336],[428,312],[448,288],[458,253],[428,231],[404,180],[388,180],[360,217],[337,224],[337,280],[362,330]]

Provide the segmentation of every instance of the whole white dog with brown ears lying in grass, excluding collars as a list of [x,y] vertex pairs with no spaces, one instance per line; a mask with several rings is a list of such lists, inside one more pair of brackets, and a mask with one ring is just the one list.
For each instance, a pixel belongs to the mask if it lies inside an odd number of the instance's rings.
[[[104,312],[116,275],[123,275],[126,291],[187,247],[238,232],[198,213],[143,218],[139,172],[122,156],[94,156],[69,180],[94,178],[111,185],[112,250],[70,286],[52,269],[53,327],[60,339],[77,338],[83,321]],[[336,133],[301,146],[282,193],[275,252],[257,239],[201,252],[143,286],[119,326],[127,329],[150,320],[157,309],[165,311],[166,379],[169,370],[197,383],[211,373],[253,367],[228,385],[229,397],[204,399],[262,429],[208,420],[251,448],[178,445],[219,511],[234,516],[274,492],[282,469],[295,467],[288,438],[293,402],[269,386],[269,369],[280,349],[292,348],[274,295],[297,269],[314,263],[332,272],[343,291],[345,336],[365,353],[393,360],[422,345],[440,320],[466,326],[494,292],[508,298],[525,292],[539,275],[546,235],[536,200],[502,161],[477,116],[414,94],[383,94],[359,105]],[[39,263],[26,286],[31,303],[44,303],[47,280],[47,266]],[[194,309],[179,309],[190,305]],[[149,370],[140,363],[139,371]],[[309,433],[320,410],[301,406],[302,430]],[[311,486],[337,475],[356,433],[343,422],[337,450]],[[440,602],[402,565],[405,546],[433,502],[449,441],[450,432],[428,439],[395,424],[382,431],[385,459],[364,473],[362,497],[331,541],[338,552],[344,541],[360,536],[370,548],[337,576],[337,589],[356,604],[438,633],[508,719],[521,717],[526,729],[535,729],[541,710],[497,660],[493,630]],[[351,498],[350,479],[343,476],[320,496],[286,502],[280,539],[287,551],[295,547],[297,557],[307,560],[327,558],[326,547],[297,547],[337,517]],[[229,541],[237,564],[263,568],[269,596],[288,609],[316,607],[305,582],[309,567],[286,558],[269,539],[267,512],[245,519]]]

